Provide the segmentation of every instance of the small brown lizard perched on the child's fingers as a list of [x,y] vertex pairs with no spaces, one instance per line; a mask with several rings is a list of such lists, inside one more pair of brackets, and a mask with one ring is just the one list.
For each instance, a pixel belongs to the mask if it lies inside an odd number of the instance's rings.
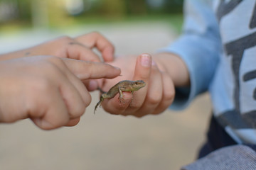
[[137,91],[144,86],[146,86],[146,83],[142,80],[137,80],[137,81],[124,80],[124,81],[119,81],[119,83],[112,86],[112,88],[107,92],[104,92],[101,89],[99,89],[100,91],[102,91],[102,95],[100,96],[100,101],[95,106],[95,111],[97,109],[97,106],[99,106],[102,103],[102,101],[104,101],[105,98],[113,98],[114,96],[116,96],[117,93],[119,93],[119,101],[121,102],[121,99],[123,97],[122,91],[131,91],[133,94],[134,91]]

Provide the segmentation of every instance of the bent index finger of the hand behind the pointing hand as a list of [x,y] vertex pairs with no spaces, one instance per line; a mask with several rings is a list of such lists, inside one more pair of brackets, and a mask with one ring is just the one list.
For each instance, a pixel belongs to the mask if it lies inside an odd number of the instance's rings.
[[87,45],[90,48],[97,47],[102,53],[105,62],[114,60],[114,46],[100,33],[94,32],[75,38],[78,42]]

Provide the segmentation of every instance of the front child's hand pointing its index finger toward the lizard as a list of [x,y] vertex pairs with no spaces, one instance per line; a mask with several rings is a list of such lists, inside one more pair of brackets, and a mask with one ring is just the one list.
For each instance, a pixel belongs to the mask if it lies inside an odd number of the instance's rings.
[[91,102],[81,80],[119,74],[109,64],[50,56],[2,61],[0,122],[31,118],[44,130],[76,125]]

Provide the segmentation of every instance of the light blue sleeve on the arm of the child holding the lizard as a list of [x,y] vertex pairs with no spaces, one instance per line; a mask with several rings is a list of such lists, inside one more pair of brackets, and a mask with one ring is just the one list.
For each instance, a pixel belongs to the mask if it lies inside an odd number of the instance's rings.
[[180,56],[188,67],[191,86],[177,88],[170,108],[186,108],[198,94],[208,90],[221,52],[218,21],[210,1],[188,0],[184,4],[183,33],[176,42],[161,49]]

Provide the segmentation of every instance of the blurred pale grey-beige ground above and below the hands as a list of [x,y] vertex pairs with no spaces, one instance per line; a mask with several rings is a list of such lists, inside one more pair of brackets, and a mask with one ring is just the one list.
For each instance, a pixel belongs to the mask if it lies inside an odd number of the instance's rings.
[[[98,30],[112,40],[119,54],[154,52],[176,38],[165,23],[85,26],[58,33],[37,30],[1,35],[0,52],[55,38]],[[165,111],[144,118],[93,114],[92,103],[74,128],[43,131],[30,120],[0,124],[0,169],[179,169],[193,162],[210,116],[208,94],[181,112]]]

